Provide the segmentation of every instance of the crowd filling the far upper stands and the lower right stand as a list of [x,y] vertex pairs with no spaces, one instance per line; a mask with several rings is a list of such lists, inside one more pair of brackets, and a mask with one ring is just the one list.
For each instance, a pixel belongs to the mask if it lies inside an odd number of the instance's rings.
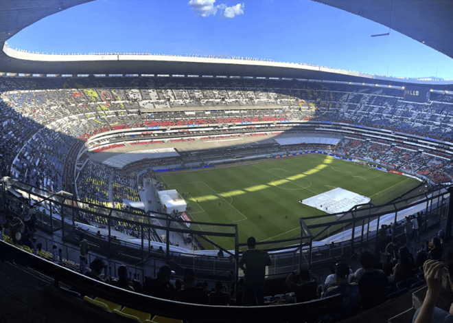
[[[0,78],[0,93],[2,175],[54,191],[71,191],[74,159],[82,145],[77,139],[106,131],[314,119],[434,139],[450,140],[453,134],[451,96],[432,93],[430,104],[410,103],[402,100],[400,89],[356,85],[222,78]],[[383,163],[434,182],[452,181],[448,156],[389,145],[356,138],[339,151],[368,159],[384,156]]]

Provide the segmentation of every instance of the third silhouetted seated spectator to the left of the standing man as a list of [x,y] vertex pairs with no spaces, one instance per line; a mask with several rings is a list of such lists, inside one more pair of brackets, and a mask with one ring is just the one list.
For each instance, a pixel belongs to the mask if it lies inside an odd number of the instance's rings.
[[170,280],[174,271],[169,266],[163,265],[157,271],[156,278],[146,278],[143,284],[143,293],[156,298],[174,299],[174,285]]

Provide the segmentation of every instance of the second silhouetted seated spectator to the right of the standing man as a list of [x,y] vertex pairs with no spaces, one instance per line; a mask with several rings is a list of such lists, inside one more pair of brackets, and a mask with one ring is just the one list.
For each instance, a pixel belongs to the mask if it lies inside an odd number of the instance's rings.
[[329,315],[332,321],[339,321],[352,315],[358,306],[359,289],[355,284],[349,284],[349,265],[343,261],[336,264],[335,269],[337,286],[332,286],[323,293],[322,298],[329,296],[341,295],[343,300],[342,309]]

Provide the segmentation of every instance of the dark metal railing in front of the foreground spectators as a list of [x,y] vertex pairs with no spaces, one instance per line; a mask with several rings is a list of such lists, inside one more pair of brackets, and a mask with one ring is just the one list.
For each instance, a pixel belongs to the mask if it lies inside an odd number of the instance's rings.
[[[233,271],[237,281],[239,275],[238,262],[245,249],[244,243],[239,243],[237,225],[220,223],[202,223],[172,219],[168,214],[154,212],[153,216],[143,212],[130,212],[106,208],[102,205],[77,201],[65,192],[46,192],[27,183],[16,181],[3,181],[3,208],[6,208],[6,200],[16,200],[23,203],[14,195],[6,194],[14,192],[16,196],[27,199],[25,204],[40,203],[44,205],[44,212],[38,212],[37,225],[48,232],[55,234],[60,232],[62,241],[78,244],[76,236],[82,230],[76,225],[76,219],[93,218],[104,223],[108,230],[105,236],[97,236],[95,232],[89,236],[92,249],[98,254],[104,254],[108,259],[115,258],[136,264],[137,268],[153,267],[149,263],[161,261],[172,263],[176,268],[191,267],[205,276],[227,278]],[[377,249],[380,245],[377,230],[382,224],[393,223],[393,238],[402,236],[402,227],[398,223],[407,215],[420,212],[420,230],[429,230],[434,226],[441,226],[450,219],[450,187],[442,187],[410,199],[388,203],[386,205],[362,205],[362,208],[354,208],[341,214],[325,214],[321,216],[308,216],[300,219],[301,230],[292,238],[278,241],[266,241],[257,243],[260,249],[266,249],[272,259],[272,265],[268,267],[268,277],[283,277],[288,272],[301,267],[310,269],[323,269],[332,258],[355,254],[364,245]],[[150,219],[159,219],[165,225],[159,225]],[[4,220],[4,219],[3,219]],[[134,225],[139,231],[140,243],[113,238],[115,225],[121,222]],[[191,227],[187,227],[190,223]],[[307,224],[310,223],[310,224]],[[452,226],[451,224],[448,224]],[[151,242],[148,238],[151,230],[170,234],[188,234],[201,245],[213,248],[199,252],[184,247],[170,245],[167,238],[164,243]],[[451,232],[451,230],[450,230]],[[230,239],[231,243],[219,245],[211,237],[222,236]],[[47,240],[46,240],[47,241]],[[154,248],[160,245],[162,249]],[[231,249],[233,245],[234,248]],[[218,256],[218,250],[222,250],[223,256]],[[68,252],[66,252],[68,254]],[[137,269],[139,270],[139,269]],[[143,269],[145,270],[145,269]],[[146,269],[146,271],[153,269]],[[155,270],[155,269],[154,269]],[[143,277],[143,274],[141,275]]]

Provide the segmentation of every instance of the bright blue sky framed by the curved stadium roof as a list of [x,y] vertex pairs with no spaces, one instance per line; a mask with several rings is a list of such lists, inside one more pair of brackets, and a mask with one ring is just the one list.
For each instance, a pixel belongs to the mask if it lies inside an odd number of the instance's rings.
[[229,55],[371,74],[453,78],[453,60],[310,0],[97,0],[49,16],[8,43],[32,52]]

